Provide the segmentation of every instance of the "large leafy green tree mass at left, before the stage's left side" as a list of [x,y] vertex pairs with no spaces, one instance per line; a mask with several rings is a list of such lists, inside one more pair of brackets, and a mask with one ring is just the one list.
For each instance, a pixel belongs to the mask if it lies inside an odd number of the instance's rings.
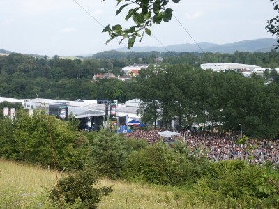
[[43,111],[36,110],[32,116],[29,116],[28,111],[17,111],[13,121],[13,138],[7,138],[6,141],[14,141],[15,160],[52,168],[51,139],[59,169],[81,169],[87,163],[87,141],[81,140],[77,130],[73,130],[73,124],[58,120],[55,116],[47,116]]

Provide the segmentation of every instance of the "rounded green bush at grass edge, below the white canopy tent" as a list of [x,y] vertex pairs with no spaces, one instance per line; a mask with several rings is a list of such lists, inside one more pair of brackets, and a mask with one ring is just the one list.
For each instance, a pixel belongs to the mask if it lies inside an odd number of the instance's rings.
[[162,185],[181,185],[188,177],[188,161],[167,144],[134,151],[126,159],[125,178]]

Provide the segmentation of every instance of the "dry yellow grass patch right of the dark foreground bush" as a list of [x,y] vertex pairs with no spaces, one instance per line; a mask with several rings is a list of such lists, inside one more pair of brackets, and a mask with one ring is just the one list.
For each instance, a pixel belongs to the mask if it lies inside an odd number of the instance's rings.
[[101,180],[100,185],[111,186],[113,192],[103,197],[98,208],[209,208],[201,200],[191,199],[186,191],[111,180]]

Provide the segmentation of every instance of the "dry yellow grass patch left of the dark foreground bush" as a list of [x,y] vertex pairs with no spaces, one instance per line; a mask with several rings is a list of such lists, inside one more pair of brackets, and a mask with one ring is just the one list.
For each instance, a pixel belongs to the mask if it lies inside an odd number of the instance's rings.
[[[0,159],[0,208],[36,208],[47,202],[55,173]],[[43,207],[44,208],[44,207]]]

